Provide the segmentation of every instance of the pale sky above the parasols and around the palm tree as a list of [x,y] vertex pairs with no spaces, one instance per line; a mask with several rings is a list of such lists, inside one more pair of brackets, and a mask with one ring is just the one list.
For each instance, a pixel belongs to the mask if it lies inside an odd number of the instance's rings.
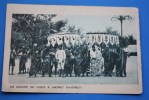
[[[114,15],[113,15],[114,16]],[[83,33],[87,32],[105,32],[106,28],[112,27],[113,30],[117,30],[119,33],[121,31],[119,21],[111,21],[113,16],[92,16],[92,15],[57,15],[52,19],[56,22],[58,20],[68,20],[69,25],[76,25],[76,27],[81,27]],[[134,16],[132,16],[134,17]],[[66,27],[67,27],[66,26]],[[123,36],[133,35],[136,38],[136,21],[135,17],[133,21],[123,22]]]

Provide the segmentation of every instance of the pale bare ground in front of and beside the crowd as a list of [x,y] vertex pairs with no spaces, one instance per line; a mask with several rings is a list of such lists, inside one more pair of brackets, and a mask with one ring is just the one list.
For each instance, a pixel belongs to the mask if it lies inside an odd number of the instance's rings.
[[[40,74],[37,77],[29,77],[28,73],[18,74],[19,60],[16,59],[16,66],[14,69],[14,75],[9,75],[9,81],[11,84],[137,84],[137,57],[131,56],[127,59],[127,77],[41,77]],[[30,66],[30,60],[28,60],[26,66]],[[74,74],[73,74],[74,76]]]

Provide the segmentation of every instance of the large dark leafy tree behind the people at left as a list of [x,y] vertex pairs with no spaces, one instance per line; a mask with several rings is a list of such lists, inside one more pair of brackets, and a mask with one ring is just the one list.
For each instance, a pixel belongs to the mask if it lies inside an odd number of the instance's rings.
[[[13,41],[21,38],[29,47],[33,48],[34,44],[37,44],[40,48],[40,46],[46,44],[47,37],[50,34],[61,31],[67,24],[65,20],[52,22],[54,17],[56,17],[56,14],[13,14]],[[17,33],[17,35],[14,33]]]

